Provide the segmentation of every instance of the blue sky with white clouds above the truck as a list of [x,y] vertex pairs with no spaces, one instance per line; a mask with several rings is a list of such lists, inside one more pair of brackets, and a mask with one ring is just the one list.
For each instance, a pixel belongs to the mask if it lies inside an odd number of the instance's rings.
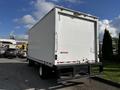
[[99,32],[120,32],[120,0],[0,0],[0,35],[25,34],[55,5],[99,17]]

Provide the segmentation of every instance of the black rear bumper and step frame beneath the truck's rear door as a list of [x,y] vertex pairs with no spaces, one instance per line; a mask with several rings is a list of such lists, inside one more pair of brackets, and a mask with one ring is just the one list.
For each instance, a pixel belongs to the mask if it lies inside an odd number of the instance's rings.
[[69,65],[57,65],[56,66],[58,76],[70,75],[75,77],[76,75],[99,75],[103,71],[103,65],[99,63],[86,63],[86,64],[69,64]]

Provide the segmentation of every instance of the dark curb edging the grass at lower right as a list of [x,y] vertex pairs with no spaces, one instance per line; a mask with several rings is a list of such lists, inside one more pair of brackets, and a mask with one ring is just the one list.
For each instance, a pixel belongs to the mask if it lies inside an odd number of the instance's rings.
[[106,79],[103,79],[103,78],[100,78],[100,77],[91,77],[91,78],[94,79],[94,80],[100,81],[102,83],[109,84],[111,86],[115,86],[115,87],[120,88],[120,84],[119,83],[113,82],[111,80],[106,80]]

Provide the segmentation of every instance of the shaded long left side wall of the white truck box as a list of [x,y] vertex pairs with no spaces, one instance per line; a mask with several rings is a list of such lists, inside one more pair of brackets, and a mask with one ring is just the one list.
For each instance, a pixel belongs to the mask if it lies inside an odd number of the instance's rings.
[[51,11],[29,31],[28,56],[53,64],[55,60],[54,38],[55,14]]

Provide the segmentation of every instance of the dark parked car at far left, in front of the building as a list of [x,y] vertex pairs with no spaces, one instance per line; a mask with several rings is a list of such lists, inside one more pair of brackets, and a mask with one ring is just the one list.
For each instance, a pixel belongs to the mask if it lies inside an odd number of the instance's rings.
[[17,49],[15,49],[15,48],[8,48],[8,49],[5,51],[4,56],[7,57],[7,58],[16,57],[16,56],[17,56]]

